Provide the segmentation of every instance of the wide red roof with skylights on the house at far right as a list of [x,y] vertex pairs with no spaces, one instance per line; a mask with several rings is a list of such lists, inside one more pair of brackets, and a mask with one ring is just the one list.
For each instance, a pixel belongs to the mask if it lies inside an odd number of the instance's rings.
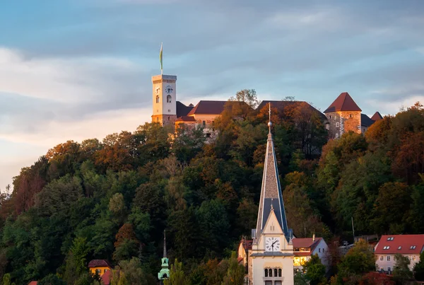
[[382,235],[375,253],[382,254],[416,254],[419,255],[424,248],[424,235]]

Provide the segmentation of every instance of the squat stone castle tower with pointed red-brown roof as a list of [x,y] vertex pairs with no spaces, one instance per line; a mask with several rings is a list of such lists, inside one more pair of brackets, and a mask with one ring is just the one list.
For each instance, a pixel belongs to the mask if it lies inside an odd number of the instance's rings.
[[361,133],[360,107],[356,105],[351,95],[343,92],[324,111],[329,122],[329,136],[338,139],[345,132]]

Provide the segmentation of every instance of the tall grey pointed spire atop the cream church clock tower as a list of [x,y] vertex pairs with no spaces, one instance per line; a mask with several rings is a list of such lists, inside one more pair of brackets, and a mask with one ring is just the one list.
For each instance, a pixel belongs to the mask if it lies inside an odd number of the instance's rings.
[[259,212],[256,228],[256,236],[259,236],[264,229],[265,223],[271,211],[276,214],[278,223],[283,229],[285,238],[289,240],[290,235],[285,218],[283,194],[281,191],[280,178],[278,178],[278,168],[276,153],[271,134],[271,103],[269,104],[269,133],[266,141],[266,154],[264,162],[264,175],[262,177],[261,199],[259,201]]

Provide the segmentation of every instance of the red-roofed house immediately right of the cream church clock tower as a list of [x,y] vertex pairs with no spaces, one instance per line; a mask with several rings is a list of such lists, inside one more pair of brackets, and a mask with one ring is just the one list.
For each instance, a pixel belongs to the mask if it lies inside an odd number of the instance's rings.
[[329,247],[324,238],[293,238],[293,266],[295,271],[303,271],[303,264],[317,254],[326,269],[329,269]]

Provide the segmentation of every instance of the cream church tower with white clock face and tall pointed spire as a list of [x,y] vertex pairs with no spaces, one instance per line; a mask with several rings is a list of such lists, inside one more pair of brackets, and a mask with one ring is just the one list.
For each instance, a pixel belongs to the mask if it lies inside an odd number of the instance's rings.
[[276,153],[271,134],[271,106],[268,141],[262,178],[257,228],[252,230],[249,255],[249,284],[294,284],[292,232],[288,229]]

